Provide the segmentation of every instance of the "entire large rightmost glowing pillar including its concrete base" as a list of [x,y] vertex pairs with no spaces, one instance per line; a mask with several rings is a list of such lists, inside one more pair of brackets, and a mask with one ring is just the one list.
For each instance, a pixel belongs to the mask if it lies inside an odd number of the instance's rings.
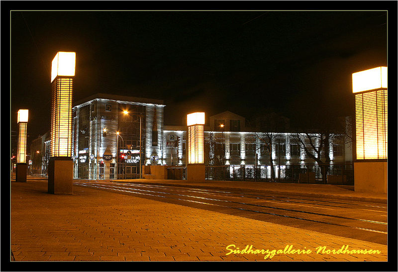
[[387,67],[352,74],[355,191],[387,193]]

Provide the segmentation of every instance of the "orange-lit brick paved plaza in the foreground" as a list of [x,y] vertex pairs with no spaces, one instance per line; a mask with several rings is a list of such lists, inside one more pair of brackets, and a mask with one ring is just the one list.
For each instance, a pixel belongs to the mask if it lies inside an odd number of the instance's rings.
[[[387,246],[104,190],[74,186],[47,193],[47,182],[11,182],[11,251],[15,261],[270,261],[240,250],[311,249],[271,261],[387,261]],[[380,254],[316,254],[338,250]]]

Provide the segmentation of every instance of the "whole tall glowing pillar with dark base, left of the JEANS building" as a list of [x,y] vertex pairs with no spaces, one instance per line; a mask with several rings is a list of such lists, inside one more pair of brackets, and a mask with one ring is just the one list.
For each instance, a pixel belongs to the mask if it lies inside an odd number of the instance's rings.
[[51,155],[48,192],[72,194],[72,92],[76,53],[58,52],[51,65]]

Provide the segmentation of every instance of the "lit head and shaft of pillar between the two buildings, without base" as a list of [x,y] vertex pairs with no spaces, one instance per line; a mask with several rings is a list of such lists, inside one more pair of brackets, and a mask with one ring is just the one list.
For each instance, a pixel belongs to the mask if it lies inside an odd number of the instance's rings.
[[188,125],[188,164],[203,164],[203,125],[204,112],[187,115]]

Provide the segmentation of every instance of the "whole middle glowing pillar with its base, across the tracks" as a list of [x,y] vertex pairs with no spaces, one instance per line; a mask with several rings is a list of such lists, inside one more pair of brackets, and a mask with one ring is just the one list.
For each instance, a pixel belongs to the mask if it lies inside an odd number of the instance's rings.
[[204,182],[204,112],[187,115],[187,181]]

